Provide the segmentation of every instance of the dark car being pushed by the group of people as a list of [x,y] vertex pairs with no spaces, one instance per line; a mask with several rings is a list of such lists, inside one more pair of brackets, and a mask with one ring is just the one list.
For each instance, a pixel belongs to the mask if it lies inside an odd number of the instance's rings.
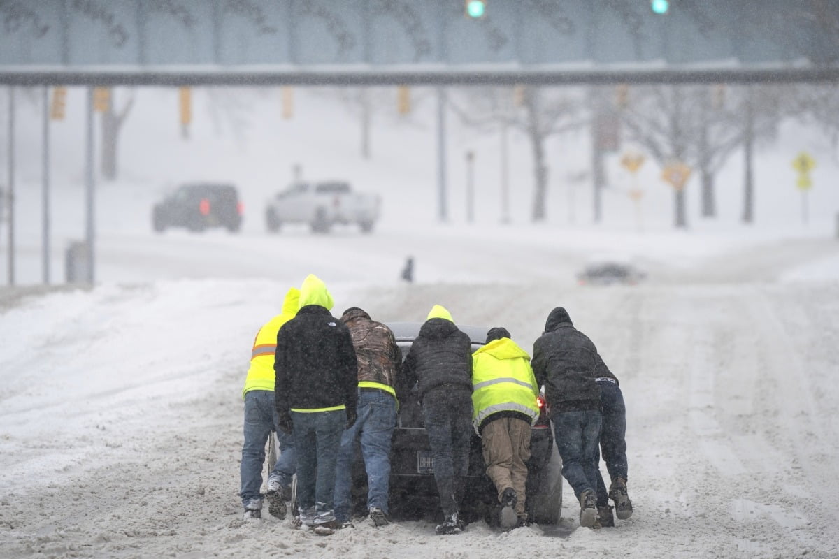
[[[422,323],[394,322],[388,323],[388,326],[393,329],[403,357],[408,355]],[[487,337],[486,328],[461,325],[458,328],[472,339],[473,351],[481,347]],[[539,396],[539,407],[539,421],[530,433],[527,509],[531,521],[540,525],[555,525],[562,510],[562,462],[554,449],[553,431],[542,396]],[[498,493],[485,470],[481,438],[473,432],[461,515],[468,522],[486,520],[489,525],[498,525]],[[367,475],[360,453],[352,470],[352,487],[353,513],[366,515]],[[407,401],[399,402],[397,426],[393,430],[390,451],[389,506],[390,515],[394,519],[442,518],[428,435],[420,402],[413,395]]]

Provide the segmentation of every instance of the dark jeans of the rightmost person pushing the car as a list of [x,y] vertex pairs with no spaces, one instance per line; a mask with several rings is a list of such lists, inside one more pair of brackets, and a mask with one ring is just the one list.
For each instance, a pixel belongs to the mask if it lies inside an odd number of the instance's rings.
[[[621,387],[607,380],[598,380],[603,425],[600,431],[600,450],[612,479],[627,479],[627,411]],[[609,505],[609,494],[600,474],[600,452],[594,461],[597,468],[597,506]]]

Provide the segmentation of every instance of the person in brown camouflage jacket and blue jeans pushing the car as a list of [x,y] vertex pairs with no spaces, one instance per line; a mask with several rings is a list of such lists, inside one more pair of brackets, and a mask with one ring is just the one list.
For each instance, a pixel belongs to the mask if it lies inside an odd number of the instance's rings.
[[367,472],[367,512],[377,526],[387,525],[390,484],[390,442],[396,427],[396,380],[402,350],[386,325],[364,310],[347,308],[341,315],[352,335],[358,359],[357,420],[341,435],[335,479],[335,515],[347,525],[352,515],[352,462],[361,444]]

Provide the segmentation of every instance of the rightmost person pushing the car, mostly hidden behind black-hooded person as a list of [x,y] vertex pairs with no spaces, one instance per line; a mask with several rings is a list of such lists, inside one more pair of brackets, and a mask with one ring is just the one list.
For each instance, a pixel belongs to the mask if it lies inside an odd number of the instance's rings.
[[595,378],[600,386],[600,408],[603,424],[600,430],[600,450],[603,462],[606,463],[612,484],[606,490],[603,476],[600,474],[600,453],[597,453],[597,520],[600,525],[612,527],[615,519],[609,499],[614,502],[618,519],[626,520],[632,516],[632,501],[627,492],[627,418],[626,406],[623,403],[623,392],[618,377],[597,355]]

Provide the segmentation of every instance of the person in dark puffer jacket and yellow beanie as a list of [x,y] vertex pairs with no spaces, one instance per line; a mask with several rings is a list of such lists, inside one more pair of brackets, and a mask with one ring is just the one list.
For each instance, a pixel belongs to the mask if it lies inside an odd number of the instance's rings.
[[459,508],[472,438],[472,342],[446,308],[431,309],[405,357],[402,375],[405,386],[416,386],[434,459],[444,515],[435,531],[456,534],[464,527]]

